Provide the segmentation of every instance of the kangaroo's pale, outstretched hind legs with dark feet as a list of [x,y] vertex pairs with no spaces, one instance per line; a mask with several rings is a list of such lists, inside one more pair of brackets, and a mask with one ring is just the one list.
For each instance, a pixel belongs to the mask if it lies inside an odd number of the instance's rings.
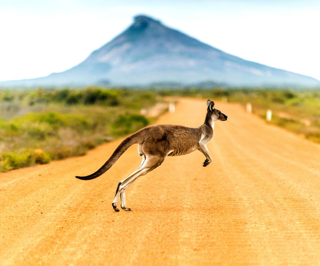
[[116,202],[118,201],[119,196],[121,197],[121,208],[126,211],[131,210],[130,208],[127,208],[125,204],[125,190],[139,176],[145,175],[148,172],[155,169],[156,167],[158,167],[164,161],[164,158],[165,158],[164,156],[146,156],[146,160],[142,163],[140,168],[138,168],[130,176],[128,176],[127,178],[119,182],[119,187],[116,192],[116,196],[112,202],[112,207],[115,211],[119,211],[119,209],[116,208]]

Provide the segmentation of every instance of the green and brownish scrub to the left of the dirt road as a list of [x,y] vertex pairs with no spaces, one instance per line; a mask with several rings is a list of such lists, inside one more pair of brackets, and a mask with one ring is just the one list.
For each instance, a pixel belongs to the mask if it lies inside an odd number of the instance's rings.
[[0,91],[0,171],[84,155],[154,118],[140,115],[156,93],[84,90]]

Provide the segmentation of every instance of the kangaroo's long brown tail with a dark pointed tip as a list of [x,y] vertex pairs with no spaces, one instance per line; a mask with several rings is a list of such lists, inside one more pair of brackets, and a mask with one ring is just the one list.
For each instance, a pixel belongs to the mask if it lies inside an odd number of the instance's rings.
[[140,131],[132,134],[127,137],[124,141],[120,143],[120,145],[116,148],[113,154],[110,156],[107,162],[105,162],[98,171],[94,172],[88,176],[76,176],[76,178],[81,180],[91,180],[99,177],[103,173],[105,173],[118,159],[119,157],[133,144],[142,142],[142,134]]

